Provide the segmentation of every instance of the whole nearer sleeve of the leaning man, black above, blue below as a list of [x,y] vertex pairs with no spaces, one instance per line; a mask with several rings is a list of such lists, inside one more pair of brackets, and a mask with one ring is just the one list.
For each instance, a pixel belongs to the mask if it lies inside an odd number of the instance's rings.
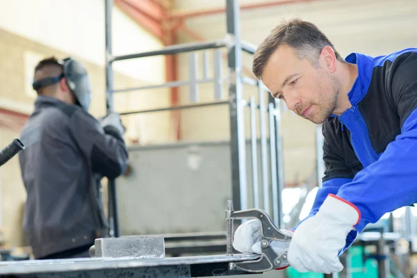
[[355,226],[361,232],[382,215],[417,201],[417,53],[396,58],[386,70],[388,99],[398,113],[401,133],[378,161],[356,174],[338,190],[338,197],[361,212]]

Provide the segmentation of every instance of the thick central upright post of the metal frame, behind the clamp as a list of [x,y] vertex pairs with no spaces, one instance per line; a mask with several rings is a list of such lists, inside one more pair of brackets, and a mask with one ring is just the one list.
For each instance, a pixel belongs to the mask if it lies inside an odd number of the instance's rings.
[[242,47],[238,0],[226,1],[227,35],[233,38],[227,47],[229,66],[229,113],[232,196],[235,209],[247,209],[246,145],[243,85],[241,80]]

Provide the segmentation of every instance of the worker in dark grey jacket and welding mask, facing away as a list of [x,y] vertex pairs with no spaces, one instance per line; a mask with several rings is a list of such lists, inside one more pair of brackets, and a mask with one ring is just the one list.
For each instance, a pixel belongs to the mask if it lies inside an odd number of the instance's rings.
[[35,259],[88,257],[95,238],[108,236],[100,181],[126,170],[124,126],[117,113],[100,121],[88,113],[90,81],[76,60],[41,60],[33,80],[38,97],[19,154],[24,232]]

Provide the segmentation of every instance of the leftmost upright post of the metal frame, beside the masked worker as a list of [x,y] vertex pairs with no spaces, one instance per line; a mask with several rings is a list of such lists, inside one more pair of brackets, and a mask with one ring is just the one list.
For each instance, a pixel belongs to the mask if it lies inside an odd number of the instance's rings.
[[[106,41],[106,108],[107,114],[114,111],[113,107],[113,67],[111,63],[112,54],[112,38],[111,26],[112,18],[111,12],[113,8],[113,0],[106,0],[104,6],[104,21],[105,21],[105,41]],[[117,218],[117,195],[116,184],[114,179],[108,179],[108,224],[110,227],[110,236],[115,238],[120,236],[119,219]]]

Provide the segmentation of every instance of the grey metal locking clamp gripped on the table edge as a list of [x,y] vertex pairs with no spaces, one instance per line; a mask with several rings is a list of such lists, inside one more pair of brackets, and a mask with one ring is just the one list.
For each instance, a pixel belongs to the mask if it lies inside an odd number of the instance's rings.
[[272,223],[269,215],[258,208],[247,209],[243,211],[233,211],[231,201],[228,201],[226,220],[228,220],[228,233],[227,233],[227,254],[233,255],[233,248],[231,242],[233,235],[231,230],[233,227],[233,220],[244,219],[244,218],[255,218],[261,222],[261,257],[254,261],[243,261],[234,263],[232,267],[236,267],[240,270],[247,272],[265,272],[277,268],[286,268],[288,266],[287,253],[282,252],[281,254],[275,253],[272,250],[272,240],[280,240],[289,243],[291,240],[290,236],[282,234],[281,231]]

